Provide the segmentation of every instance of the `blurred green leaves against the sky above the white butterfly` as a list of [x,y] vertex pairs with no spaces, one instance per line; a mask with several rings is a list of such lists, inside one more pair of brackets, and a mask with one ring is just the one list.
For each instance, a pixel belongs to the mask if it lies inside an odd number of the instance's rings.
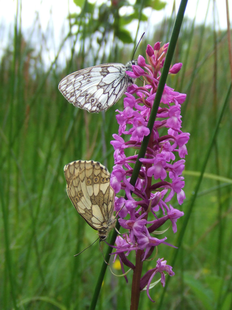
[[[154,10],[161,10],[165,7],[165,2],[160,0],[137,0],[134,5],[130,1],[111,0],[111,2],[95,5],[89,1],[74,1],[81,7],[80,14],[69,16],[71,26],[78,26],[78,33],[81,33],[81,40],[86,37],[91,38],[97,35],[98,44],[101,45],[108,35],[112,34],[114,40],[119,39],[123,43],[132,43],[133,39],[125,25],[132,21],[147,21],[148,17],[143,14],[144,8],[150,7]],[[120,15],[119,11],[124,8],[125,15]],[[72,35],[76,32],[72,31]]]

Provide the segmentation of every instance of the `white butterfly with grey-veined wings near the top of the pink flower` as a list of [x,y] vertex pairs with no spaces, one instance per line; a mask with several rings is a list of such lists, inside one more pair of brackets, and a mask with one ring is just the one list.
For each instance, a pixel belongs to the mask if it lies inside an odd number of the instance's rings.
[[89,112],[108,110],[124,94],[126,88],[135,82],[126,71],[132,71],[133,60],[122,63],[104,63],[82,69],[64,77],[59,90],[74,106]]

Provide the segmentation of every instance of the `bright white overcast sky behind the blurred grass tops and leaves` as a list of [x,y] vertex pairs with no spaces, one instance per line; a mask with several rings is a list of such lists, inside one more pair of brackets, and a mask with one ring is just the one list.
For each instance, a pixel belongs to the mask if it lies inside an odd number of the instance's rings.
[[[97,0],[98,2],[106,2],[104,0]],[[94,2],[92,0],[92,2]],[[130,2],[135,2],[135,0],[130,0]],[[173,7],[173,0],[166,0],[167,5],[164,10],[162,11],[153,11],[152,16],[151,10],[146,9],[145,13],[150,16],[151,21],[155,21],[158,23],[161,21],[164,16],[169,17],[171,16],[172,7]],[[178,10],[180,0],[176,0],[176,12]],[[197,7],[198,2],[198,7]],[[210,8],[207,15],[207,24],[212,25],[213,20],[213,13],[212,13],[212,0],[210,0]],[[231,2],[231,1],[229,1]],[[196,22],[202,23],[206,17],[207,12],[207,0],[189,0],[185,12],[185,16],[189,18],[194,18],[196,16]],[[226,7],[225,1],[216,0],[216,12],[217,12],[217,20],[216,25],[217,29],[226,29]],[[14,25],[14,18],[16,15],[17,9],[17,1],[16,0],[0,0],[0,56],[2,55],[3,49],[7,46],[9,32],[13,32],[13,25]],[[49,29],[54,30],[54,34],[51,35],[53,39],[53,46],[54,49],[57,50],[61,38],[66,35],[67,27],[67,19],[66,16],[68,12],[79,13],[79,8],[74,4],[72,0],[22,0],[22,29],[23,34],[30,33],[32,29],[36,16],[39,16],[39,24],[41,24],[42,31],[47,33],[47,37],[49,38]],[[123,10],[121,10],[123,13]],[[232,11],[232,3],[230,3],[230,11]],[[231,13],[232,14],[232,13]],[[230,14],[230,15],[231,15]],[[230,18],[231,20],[231,18]],[[48,26],[52,26],[48,27]],[[133,36],[133,29],[132,27],[132,36]],[[141,34],[146,29],[141,30]],[[139,33],[140,35],[140,33]],[[26,37],[26,35],[25,35]],[[139,36],[138,36],[139,37]],[[27,39],[27,37],[26,37]],[[51,49],[51,45],[48,47]],[[55,54],[55,53],[54,53]],[[50,60],[52,59],[52,54],[50,55]]]

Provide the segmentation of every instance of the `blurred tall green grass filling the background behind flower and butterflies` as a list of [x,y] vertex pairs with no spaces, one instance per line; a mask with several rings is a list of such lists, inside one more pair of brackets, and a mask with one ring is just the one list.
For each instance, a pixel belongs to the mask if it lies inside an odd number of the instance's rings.
[[[84,10],[89,10],[91,20],[92,7]],[[33,44],[25,41],[20,31],[20,19],[15,22],[14,36],[9,36],[1,59],[2,309],[87,309],[102,265],[98,243],[73,257],[93,242],[96,234],[76,213],[66,195],[63,167],[73,160],[93,159],[112,170],[110,141],[118,130],[115,110],[122,109],[123,101],[106,113],[90,114],[68,103],[57,87],[66,74],[80,68],[104,62],[126,63],[131,59],[134,45],[126,43],[130,41],[129,34],[120,33],[119,26],[114,24],[104,33],[107,44],[103,40],[94,41],[99,51],[110,51],[110,54],[91,55],[96,21],[92,20],[87,28],[82,18],[73,17],[80,26],[76,37],[72,36],[79,42],[79,49],[74,48],[73,40],[72,56],[67,59],[66,68],[57,66],[56,61],[46,68],[42,58],[46,46],[41,41],[40,53],[35,56]],[[140,20],[138,17],[140,24],[142,17]],[[119,22],[122,29],[125,23],[120,19]],[[173,19],[164,20],[156,25],[155,31],[150,30],[136,55],[145,56],[148,43],[167,42],[173,22]],[[44,35],[37,22],[33,31],[38,31],[41,38]],[[62,48],[63,43],[57,57]],[[179,74],[168,77],[167,84],[187,93],[182,105],[182,130],[190,133],[190,140],[184,171],[186,200],[180,209],[190,217],[178,220],[176,235],[171,228],[165,233],[167,241],[176,245],[181,232],[179,250],[165,245],[158,249],[158,257],[164,257],[170,265],[178,251],[173,265],[175,276],[168,282],[163,296],[161,284],[151,290],[155,304],[142,292],[140,309],[227,310],[232,307],[232,106],[226,32],[185,20],[175,62],[182,62],[183,67]],[[225,112],[210,149],[224,103]],[[206,159],[205,175],[191,206]],[[172,203],[178,208],[174,200]],[[103,251],[106,246],[102,244]],[[155,260],[144,263],[143,274],[154,266]],[[116,266],[111,268],[121,274]],[[112,275],[108,268],[97,309],[129,309],[132,274],[129,273],[128,279],[126,284],[123,277]]]

